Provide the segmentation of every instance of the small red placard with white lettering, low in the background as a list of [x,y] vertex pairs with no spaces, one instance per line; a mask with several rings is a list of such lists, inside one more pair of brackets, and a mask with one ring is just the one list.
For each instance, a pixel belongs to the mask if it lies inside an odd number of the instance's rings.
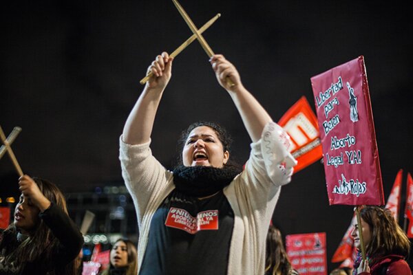
[[287,235],[286,251],[299,274],[327,274],[325,232]]

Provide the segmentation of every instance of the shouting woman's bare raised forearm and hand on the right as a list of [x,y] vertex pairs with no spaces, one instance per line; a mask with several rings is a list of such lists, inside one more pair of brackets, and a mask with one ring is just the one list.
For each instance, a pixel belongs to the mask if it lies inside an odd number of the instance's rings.
[[[218,83],[229,92],[235,107],[240,112],[242,122],[244,122],[251,140],[257,142],[257,140],[260,140],[264,126],[272,120],[270,115],[261,106],[260,102],[244,88],[237,69],[222,54],[215,54],[211,58],[211,64]],[[234,85],[229,83],[227,77],[231,79]]]

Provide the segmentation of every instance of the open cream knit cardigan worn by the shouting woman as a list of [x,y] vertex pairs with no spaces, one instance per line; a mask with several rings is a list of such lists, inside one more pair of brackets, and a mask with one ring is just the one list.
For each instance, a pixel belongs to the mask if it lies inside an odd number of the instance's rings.
[[[266,124],[261,139],[251,144],[244,171],[224,188],[235,216],[228,274],[264,274],[268,225],[281,186],[290,182],[292,166],[296,164],[286,148],[288,138],[275,122]],[[149,144],[150,141],[129,145],[120,137],[122,175],[138,217],[138,267],[147,247],[153,214],[175,188],[171,171],[153,157]]]

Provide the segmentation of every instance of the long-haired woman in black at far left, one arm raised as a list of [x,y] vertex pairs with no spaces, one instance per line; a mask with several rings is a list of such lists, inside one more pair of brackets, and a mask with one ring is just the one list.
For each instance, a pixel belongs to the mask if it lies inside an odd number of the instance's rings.
[[67,214],[59,188],[23,175],[14,221],[0,240],[0,274],[76,274],[83,236]]

